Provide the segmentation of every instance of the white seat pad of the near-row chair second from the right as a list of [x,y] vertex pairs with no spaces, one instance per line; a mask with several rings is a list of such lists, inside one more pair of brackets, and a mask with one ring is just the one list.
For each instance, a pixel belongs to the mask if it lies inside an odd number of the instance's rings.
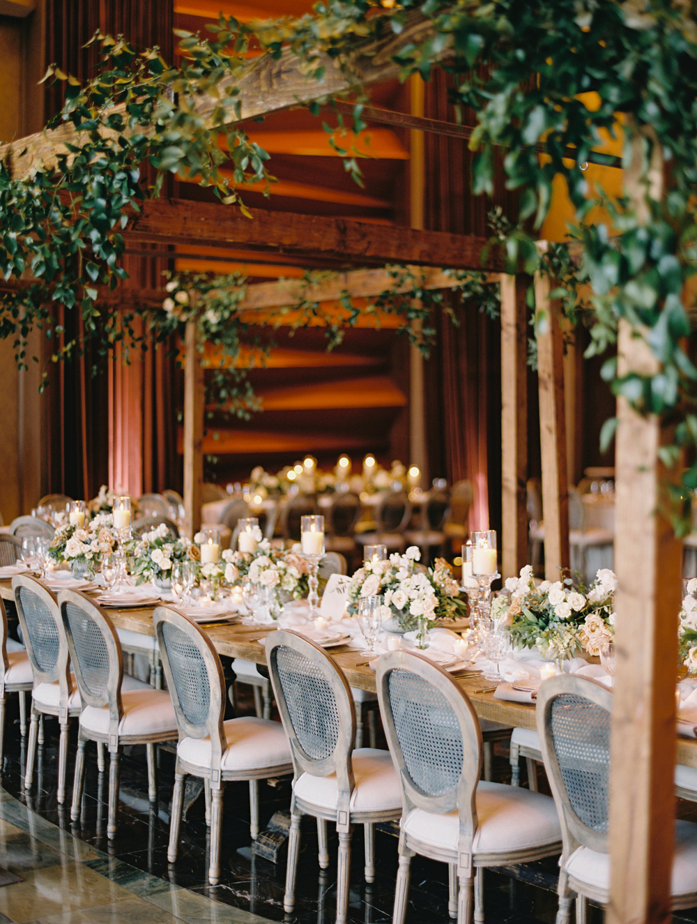
[[[518,786],[481,781],[476,789],[476,854],[505,854],[542,847],[561,840],[554,799]],[[436,815],[414,808],[403,829],[423,844],[457,851],[460,820],[457,811]]]

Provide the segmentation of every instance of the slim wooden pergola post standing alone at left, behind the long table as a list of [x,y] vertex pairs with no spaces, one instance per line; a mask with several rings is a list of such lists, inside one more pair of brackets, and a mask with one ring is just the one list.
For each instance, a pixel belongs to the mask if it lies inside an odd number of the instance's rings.
[[[195,298],[191,294],[191,298]],[[189,539],[200,529],[203,487],[203,369],[197,348],[196,322],[186,323],[184,370],[184,533]]]

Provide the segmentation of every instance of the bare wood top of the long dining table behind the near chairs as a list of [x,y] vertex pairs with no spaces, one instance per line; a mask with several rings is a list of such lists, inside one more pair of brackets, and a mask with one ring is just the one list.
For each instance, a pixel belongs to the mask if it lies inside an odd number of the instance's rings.
[[[14,600],[12,582],[0,580],[0,597],[4,600]],[[166,604],[162,604],[166,605]],[[143,606],[138,609],[116,609],[109,607],[105,612],[109,614],[114,626],[128,629],[141,635],[154,638],[155,628],[152,623],[152,614],[155,607]],[[266,653],[263,639],[275,626],[246,626],[241,623],[210,623],[203,625],[208,633],[215,650],[229,658],[243,658],[258,664],[266,664]],[[375,672],[366,662],[366,656],[355,649],[346,646],[332,648],[327,651],[331,659],[341,669],[351,687],[375,692]],[[472,701],[476,714],[480,719],[488,719],[512,727],[535,729],[535,705],[522,702],[511,702],[506,699],[497,699],[493,690],[484,692],[484,687],[492,687],[484,675],[458,676],[454,675],[458,684]],[[676,762],[689,767],[697,768],[697,739],[678,737]]]

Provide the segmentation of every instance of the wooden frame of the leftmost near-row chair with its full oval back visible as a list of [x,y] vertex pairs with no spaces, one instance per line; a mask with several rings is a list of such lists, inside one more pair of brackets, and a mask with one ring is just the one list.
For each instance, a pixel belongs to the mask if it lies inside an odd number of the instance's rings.
[[[31,593],[39,597],[48,609],[54,619],[55,630],[58,633],[58,654],[51,670],[43,670],[36,660],[36,655],[31,645],[31,633],[22,609],[19,597],[19,589],[26,588]],[[15,605],[19,625],[22,627],[22,636],[27,648],[27,654],[31,664],[31,673],[34,676],[32,689],[39,687],[40,684],[58,684],[59,698],[58,706],[55,708],[41,703],[37,705],[32,696],[31,698],[31,718],[29,745],[27,747],[27,769],[24,775],[24,788],[30,790],[34,777],[34,761],[36,760],[37,744],[43,744],[43,728],[41,736],[39,734],[39,720],[42,715],[55,715],[60,725],[60,737],[58,744],[58,790],[56,798],[58,804],[62,805],[66,801],[66,767],[67,767],[67,736],[70,726],[70,719],[78,716],[81,711],[79,706],[68,706],[68,701],[73,693],[73,680],[70,675],[70,652],[67,647],[66,632],[61,620],[58,600],[52,590],[49,590],[45,584],[30,575],[16,575],[12,578],[12,592],[15,596]],[[102,759],[103,760],[103,759]]]

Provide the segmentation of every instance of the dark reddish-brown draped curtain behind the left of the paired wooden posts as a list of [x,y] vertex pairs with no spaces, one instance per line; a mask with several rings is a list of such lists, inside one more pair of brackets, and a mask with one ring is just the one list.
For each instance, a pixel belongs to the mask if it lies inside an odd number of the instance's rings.
[[[428,118],[455,121],[448,102],[451,86],[450,75],[433,72],[426,85]],[[475,125],[474,113],[463,116],[465,124]],[[496,205],[517,221],[517,196],[505,188],[498,154],[493,198],[472,194],[466,141],[427,132],[425,155],[429,230],[489,237],[487,213]],[[458,317],[457,327],[445,315],[440,318],[425,369],[429,470],[451,482],[472,482],[471,529],[500,529],[500,322],[475,305],[458,310]]]

